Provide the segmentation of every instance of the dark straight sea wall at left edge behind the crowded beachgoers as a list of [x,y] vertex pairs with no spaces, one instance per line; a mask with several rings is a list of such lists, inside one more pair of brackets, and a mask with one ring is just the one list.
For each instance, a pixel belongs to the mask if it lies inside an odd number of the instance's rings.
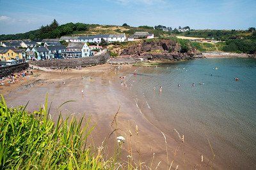
[[2,78],[4,76],[8,76],[12,73],[17,73],[19,71],[27,69],[28,67],[29,67],[28,62],[23,62],[23,63],[15,64],[12,66],[0,67],[0,78]]

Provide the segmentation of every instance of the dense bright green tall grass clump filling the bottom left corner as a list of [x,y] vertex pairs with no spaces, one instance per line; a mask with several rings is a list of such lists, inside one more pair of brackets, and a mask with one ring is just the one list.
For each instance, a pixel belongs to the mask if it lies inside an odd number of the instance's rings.
[[8,108],[0,101],[0,169],[108,169],[100,151],[92,153],[86,139],[90,119],[49,119],[47,101],[34,113],[24,106]]

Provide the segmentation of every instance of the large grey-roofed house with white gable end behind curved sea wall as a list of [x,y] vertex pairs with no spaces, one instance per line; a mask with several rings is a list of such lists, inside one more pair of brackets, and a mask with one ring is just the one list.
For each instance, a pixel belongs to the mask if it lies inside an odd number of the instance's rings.
[[68,43],[64,56],[67,58],[89,57],[90,48],[86,43]]

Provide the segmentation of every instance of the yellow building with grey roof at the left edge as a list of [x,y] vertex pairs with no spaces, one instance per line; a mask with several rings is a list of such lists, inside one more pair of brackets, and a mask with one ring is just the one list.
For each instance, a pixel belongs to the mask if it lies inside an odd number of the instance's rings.
[[12,60],[12,59],[22,59],[23,50],[20,49],[4,49],[0,50],[1,60]]

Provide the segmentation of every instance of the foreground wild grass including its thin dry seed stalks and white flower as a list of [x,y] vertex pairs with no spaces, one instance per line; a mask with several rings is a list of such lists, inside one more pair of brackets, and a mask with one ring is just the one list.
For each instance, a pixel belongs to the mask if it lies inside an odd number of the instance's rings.
[[[118,128],[119,110],[120,108],[111,123],[114,130],[109,137],[122,131]],[[29,113],[26,111],[26,106],[8,108],[2,96],[0,101],[0,169],[157,169],[160,166],[162,161],[158,164],[154,162],[156,154],[152,152],[152,149],[150,149],[153,155],[152,161],[150,165],[145,165],[145,162],[141,160],[140,143],[137,143],[138,148],[132,148],[132,136],[137,138],[140,135],[138,125],[135,128],[135,135],[132,135],[129,122],[129,131],[125,134],[127,143],[124,143],[123,136],[118,136],[115,153],[109,157],[104,153],[106,141],[103,141],[98,148],[88,145],[87,139],[93,127],[90,126],[90,118],[77,121],[74,117],[64,120],[60,116],[54,123],[47,109],[47,98],[39,111]],[[181,137],[177,132],[180,143],[177,144],[172,156],[168,155],[166,136],[163,132],[162,134],[166,146],[166,169],[178,169],[179,165],[175,164],[175,157],[180,148],[183,153],[184,136]],[[209,145],[211,146],[210,142]],[[127,160],[121,159],[122,150],[128,154]],[[134,153],[138,153],[139,157],[135,158]],[[213,150],[212,153],[214,154]],[[203,155],[200,157],[203,162]],[[185,164],[185,158],[183,159]],[[169,160],[172,160],[171,164]],[[207,165],[212,166],[212,161],[210,161]],[[197,167],[200,169],[201,166],[202,164]]]

